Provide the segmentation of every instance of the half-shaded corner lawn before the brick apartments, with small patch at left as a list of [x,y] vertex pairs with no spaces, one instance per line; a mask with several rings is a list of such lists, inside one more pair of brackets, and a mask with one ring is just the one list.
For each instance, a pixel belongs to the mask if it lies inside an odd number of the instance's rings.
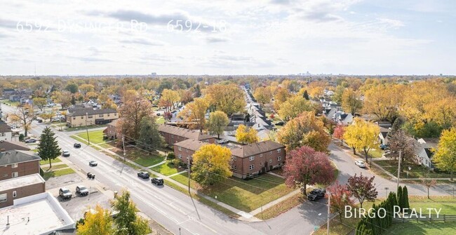
[[[173,180],[188,185],[188,173],[182,173],[172,177]],[[250,212],[260,206],[279,199],[293,191],[286,187],[281,177],[264,174],[253,180],[241,180],[236,177],[230,177],[224,182],[217,183],[208,189],[202,189],[201,192],[229,206],[239,210]],[[192,181],[191,187],[196,183]]]

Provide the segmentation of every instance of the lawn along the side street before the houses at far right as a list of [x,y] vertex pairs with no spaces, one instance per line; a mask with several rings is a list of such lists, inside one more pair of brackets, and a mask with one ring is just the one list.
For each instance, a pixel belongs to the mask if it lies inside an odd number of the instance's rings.
[[[387,170],[389,173],[393,175],[397,175],[397,168],[398,162],[394,160],[382,160],[382,161],[375,161],[377,165]],[[410,166],[411,170],[408,170]],[[434,171],[430,171],[428,168],[423,166],[417,166],[414,164],[405,163],[401,165],[403,172],[401,172],[401,178],[423,178],[423,177],[430,177],[430,178],[449,178],[450,174],[448,173],[436,173]],[[407,175],[408,172],[408,175]]]

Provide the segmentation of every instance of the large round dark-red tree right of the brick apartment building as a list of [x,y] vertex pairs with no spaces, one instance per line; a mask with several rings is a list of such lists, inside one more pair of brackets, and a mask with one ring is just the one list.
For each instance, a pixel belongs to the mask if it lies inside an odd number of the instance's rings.
[[335,180],[335,168],[327,154],[316,152],[308,146],[288,152],[283,167],[285,183],[288,187],[301,187],[307,195],[307,184],[329,184]]

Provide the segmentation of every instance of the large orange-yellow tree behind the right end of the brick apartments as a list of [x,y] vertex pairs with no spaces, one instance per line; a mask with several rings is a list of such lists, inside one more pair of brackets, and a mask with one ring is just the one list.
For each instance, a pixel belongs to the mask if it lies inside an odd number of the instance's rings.
[[277,140],[286,145],[288,151],[307,145],[316,151],[326,152],[331,142],[323,121],[316,118],[314,112],[303,112],[288,121],[277,133]]

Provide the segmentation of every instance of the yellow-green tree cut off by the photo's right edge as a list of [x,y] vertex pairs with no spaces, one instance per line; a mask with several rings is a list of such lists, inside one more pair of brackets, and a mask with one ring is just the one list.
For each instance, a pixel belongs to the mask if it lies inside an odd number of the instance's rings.
[[452,175],[456,171],[456,128],[443,130],[433,159],[437,168],[450,172],[453,180]]

